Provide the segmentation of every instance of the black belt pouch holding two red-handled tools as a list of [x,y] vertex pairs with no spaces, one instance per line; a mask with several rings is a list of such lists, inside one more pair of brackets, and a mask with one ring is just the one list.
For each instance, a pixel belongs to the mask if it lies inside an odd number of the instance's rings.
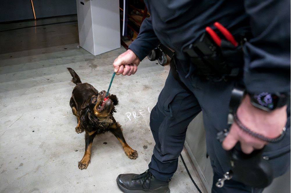
[[189,56],[191,63],[197,68],[197,74],[203,77],[236,77],[244,64],[242,45],[245,40],[237,43],[232,34],[220,23],[214,26],[226,37],[221,39],[210,27],[206,32],[191,43],[183,52]]

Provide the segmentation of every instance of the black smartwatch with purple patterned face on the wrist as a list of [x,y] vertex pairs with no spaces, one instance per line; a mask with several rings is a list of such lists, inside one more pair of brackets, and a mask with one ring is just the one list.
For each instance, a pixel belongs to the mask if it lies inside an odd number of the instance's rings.
[[251,104],[257,108],[260,108],[265,111],[272,111],[276,108],[283,107],[290,101],[290,92],[289,93],[269,93],[261,92],[250,94]]

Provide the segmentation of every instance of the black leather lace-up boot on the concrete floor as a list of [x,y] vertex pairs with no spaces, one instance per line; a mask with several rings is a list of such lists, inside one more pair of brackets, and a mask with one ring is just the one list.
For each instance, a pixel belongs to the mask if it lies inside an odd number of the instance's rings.
[[149,170],[142,174],[120,174],[116,182],[125,193],[170,193],[169,182],[156,179]]

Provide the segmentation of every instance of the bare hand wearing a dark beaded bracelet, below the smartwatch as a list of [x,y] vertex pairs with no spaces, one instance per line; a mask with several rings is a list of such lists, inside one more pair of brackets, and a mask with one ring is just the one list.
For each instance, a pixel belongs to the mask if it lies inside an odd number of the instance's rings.
[[[272,112],[260,110],[251,104],[249,95],[246,95],[237,109],[237,117],[252,132],[272,139],[281,135],[287,122],[287,111],[286,106]],[[268,143],[245,132],[234,122],[222,146],[225,150],[230,150],[237,142],[240,142],[242,152],[246,154],[262,149]]]

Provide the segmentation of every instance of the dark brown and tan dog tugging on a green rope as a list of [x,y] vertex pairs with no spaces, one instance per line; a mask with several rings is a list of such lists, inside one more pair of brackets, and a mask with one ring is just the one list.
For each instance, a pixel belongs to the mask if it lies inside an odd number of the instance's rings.
[[71,81],[76,84],[70,99],[70,107],[78,120],[75,131],[77,133],[85,131],[85,154],[78,162],[79,169],[86,169],[90,163],[94,137],[107,131],[116,136],[130,159],[136,159],[137,152],[127,145],[122,128],[113,117],[113,112],[116,112],[115,106],[118,105],[116,95],[109,93],[108,99],[104,101],[105,90],[98,92],[91,84],[82,83],[72,68],[68,70],[73,77]]

